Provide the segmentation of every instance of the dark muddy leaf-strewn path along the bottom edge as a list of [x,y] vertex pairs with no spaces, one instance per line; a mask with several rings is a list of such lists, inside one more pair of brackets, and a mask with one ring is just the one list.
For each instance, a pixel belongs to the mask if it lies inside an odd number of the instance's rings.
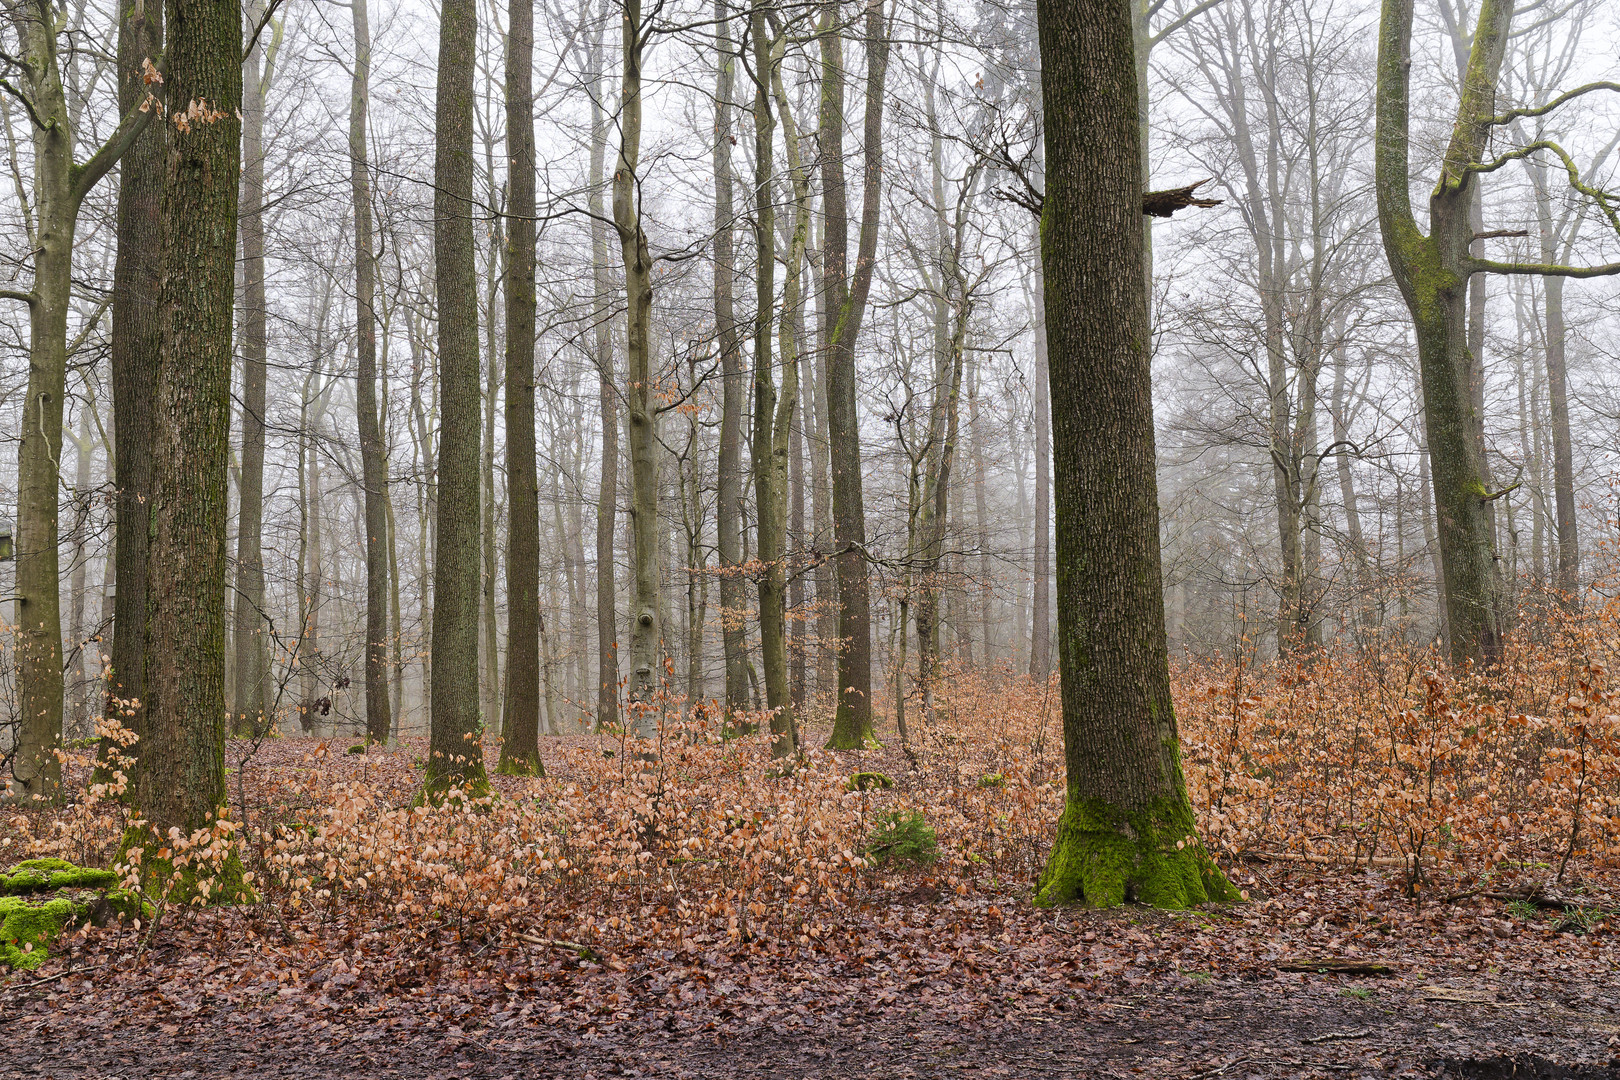
[[962,986],[816,1010],[799,986],[766,1023],[648,1002],[585,1031],[517,1010],[446,1025],[431,1001],[219,1007],[130,989],[109,1007],[60,983],[6,988],[0,1080],[1620,1077],[1620,984],[1601,978],[1173,976],[1034,1009]]

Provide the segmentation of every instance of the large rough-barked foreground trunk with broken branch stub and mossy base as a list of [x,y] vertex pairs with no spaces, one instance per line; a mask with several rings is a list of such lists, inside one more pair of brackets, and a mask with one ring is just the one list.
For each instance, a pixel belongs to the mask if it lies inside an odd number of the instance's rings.
[[1236,899],[1181,772],[1158,555],[1129,0],[1038,0],[1068,798],[1038,904]]

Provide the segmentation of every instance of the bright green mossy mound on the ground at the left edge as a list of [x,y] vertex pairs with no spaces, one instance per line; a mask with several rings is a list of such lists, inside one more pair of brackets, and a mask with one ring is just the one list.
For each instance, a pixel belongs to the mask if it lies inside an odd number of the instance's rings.
[[117,887],[110,870],[62,858],[31,858],[0,873],[0,967],[31,972],[63,929],[115,916],[151,916],[139,897]]

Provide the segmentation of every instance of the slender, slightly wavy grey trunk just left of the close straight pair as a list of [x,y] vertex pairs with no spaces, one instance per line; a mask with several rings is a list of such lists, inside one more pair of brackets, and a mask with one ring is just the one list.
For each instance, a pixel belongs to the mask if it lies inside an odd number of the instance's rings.
[[384,743],[389,712],[389,470],[377,418],[376,254],[371,227],[371,24],[366,0],[353,0],[355,73],[348,94],[348,170],[355,206],[355,411],[360,424],[360,483],[366,521],[366,742]]

